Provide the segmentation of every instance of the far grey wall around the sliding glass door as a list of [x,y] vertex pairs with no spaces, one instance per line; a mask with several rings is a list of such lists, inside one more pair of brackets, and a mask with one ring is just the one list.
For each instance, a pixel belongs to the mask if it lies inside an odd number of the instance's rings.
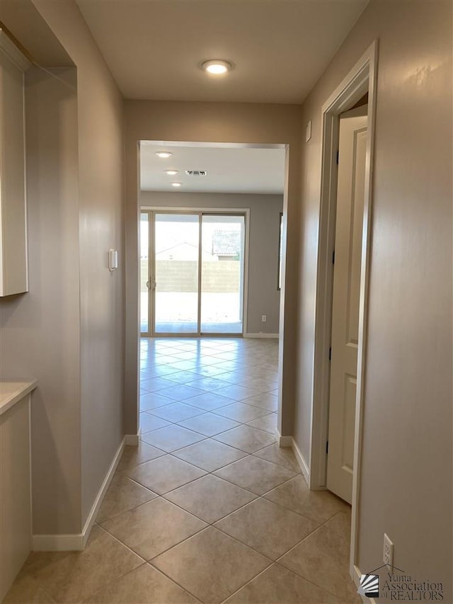
[[[278,334],[280,292],[278,244],[282,195],[238,193],[156,193],[142,191],[142,205],[168,207],[234,207],[250,210],[247,325],[249,334]],[[267,321],[261,321],[265,314]]]

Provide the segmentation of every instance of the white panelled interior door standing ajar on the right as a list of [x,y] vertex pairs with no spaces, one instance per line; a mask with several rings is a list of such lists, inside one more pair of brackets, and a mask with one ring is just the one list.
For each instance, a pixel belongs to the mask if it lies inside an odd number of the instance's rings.
[[351,503],[367,106],[340,115],[327,488]]

